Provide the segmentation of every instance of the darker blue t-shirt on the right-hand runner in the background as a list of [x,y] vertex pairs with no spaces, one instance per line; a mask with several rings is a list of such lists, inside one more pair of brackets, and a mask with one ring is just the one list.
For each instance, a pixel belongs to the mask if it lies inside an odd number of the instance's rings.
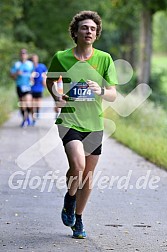
[[47,72],[47,67],[42,63],[38,63],[38,66],[34,68],[34,72],[34,84],[31,88],[31,91],[33,93],[43,92],[43,74]]

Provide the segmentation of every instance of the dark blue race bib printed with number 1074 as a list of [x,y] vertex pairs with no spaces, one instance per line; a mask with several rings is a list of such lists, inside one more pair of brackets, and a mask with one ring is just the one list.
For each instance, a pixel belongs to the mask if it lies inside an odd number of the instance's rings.
[[72,82],[70,84],[69,99],[72,101],[94,101],[95,94],[88,88],[86,82]]

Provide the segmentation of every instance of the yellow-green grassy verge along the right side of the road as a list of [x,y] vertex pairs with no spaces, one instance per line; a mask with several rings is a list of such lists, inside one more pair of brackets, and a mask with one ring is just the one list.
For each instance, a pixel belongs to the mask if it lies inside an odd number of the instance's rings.
[[116,124],[113,138],[167,169],[167,113],[162,108],[147,101],[126,118],[111,109],[105,111],[105,116]]

